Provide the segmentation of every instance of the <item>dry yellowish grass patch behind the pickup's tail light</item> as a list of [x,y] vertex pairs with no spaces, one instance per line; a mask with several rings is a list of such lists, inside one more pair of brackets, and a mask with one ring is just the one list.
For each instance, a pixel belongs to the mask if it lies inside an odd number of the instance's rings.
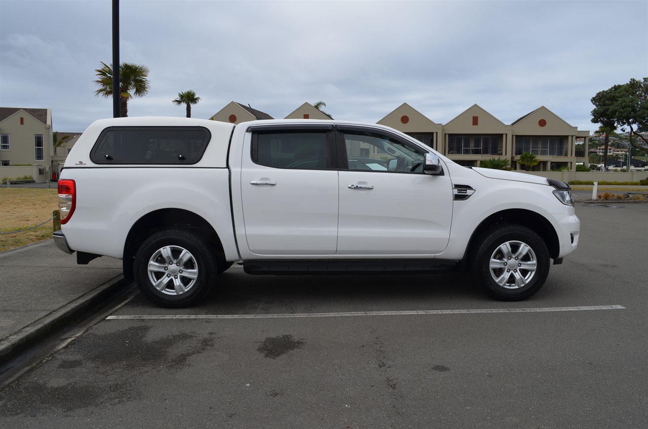
[[[58,209],[58,191],[45,188],[0,187],[0,233],[38,225]],[[52,221],[29,231],[0,234],[0,251],[52,238]]]

